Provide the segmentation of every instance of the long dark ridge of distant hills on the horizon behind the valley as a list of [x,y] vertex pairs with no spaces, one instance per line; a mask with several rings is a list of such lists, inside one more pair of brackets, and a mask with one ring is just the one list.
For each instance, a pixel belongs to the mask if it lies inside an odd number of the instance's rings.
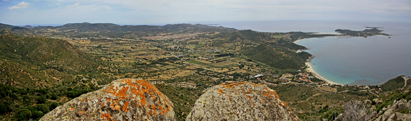
[[127,31],[181,31],[181,32],[194,32],[194,31],[215,31],[216,29],[221,29],[221,31],[237,31],[233,28],[225,27],[214,27],[201,24],[175,24],[175,25],[164,25],[164,26],[150,26],[150,25],[116,25],[112,23],[95,23],[91,24],[88,22],[83,23],[70,23],[62,26],[38,26],[32,29],[37,31],[46,31],[48,29],[54,29],[63,32],[85,32],[85,31],[106,31],[106,32],[127,32]]

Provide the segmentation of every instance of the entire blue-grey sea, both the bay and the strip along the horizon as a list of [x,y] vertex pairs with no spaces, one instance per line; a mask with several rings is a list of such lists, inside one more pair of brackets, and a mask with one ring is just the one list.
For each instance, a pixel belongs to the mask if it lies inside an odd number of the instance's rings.
[[[296,41],[315,56],[313,69],[324,78],[343,85],[381,85],[400,75],[411,76],[410,22],[356,21],[234,21],[200,22],[261,32],[335,32],[335,29],[362,31],[365,27],[383,27],[393,36],[353,38],[308,38]],[[388,38],[391,37],[391,38]]]

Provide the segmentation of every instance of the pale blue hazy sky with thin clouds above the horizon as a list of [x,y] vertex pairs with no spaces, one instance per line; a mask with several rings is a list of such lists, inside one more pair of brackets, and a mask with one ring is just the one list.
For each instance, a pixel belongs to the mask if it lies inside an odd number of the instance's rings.
[[411,22],[411,0],[0,0],[8,25],[249,20]]

